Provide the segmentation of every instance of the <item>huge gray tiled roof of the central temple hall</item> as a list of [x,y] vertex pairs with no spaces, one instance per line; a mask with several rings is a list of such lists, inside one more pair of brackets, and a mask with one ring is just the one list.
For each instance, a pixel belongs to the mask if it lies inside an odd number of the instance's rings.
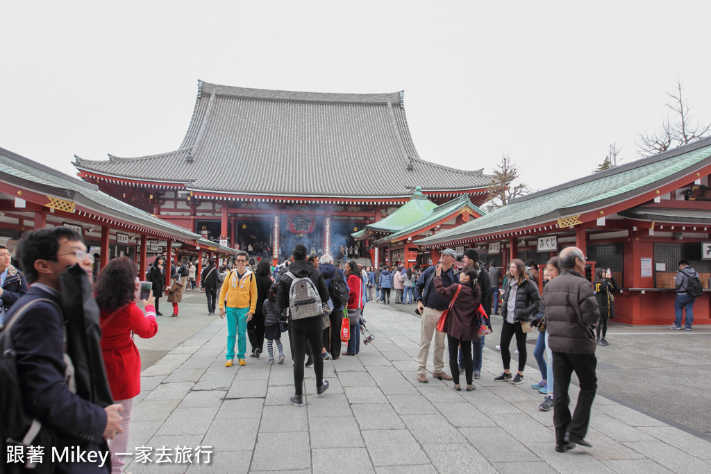
[[[188,162],[188,153],[193,157]],[[407,170],[412,161],[414,169]],[[324,94],[201,82],[180,148],[154,156],[90,161],[81,171],[190,190],[251,195],[408,197],[488,186],[480,171],[419,158],[402,92]]]

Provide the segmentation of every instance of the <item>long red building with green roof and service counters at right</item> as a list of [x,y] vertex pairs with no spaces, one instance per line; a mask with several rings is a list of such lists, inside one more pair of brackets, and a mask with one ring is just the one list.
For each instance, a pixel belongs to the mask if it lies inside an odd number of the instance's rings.
[[[686,260],[704,294],[694,324],[711,324],[711,139],[615,166],[511,200],[456,228],[415,240],[421,250],[475,247],[486,262],[543,265],[574,245],[589,273],[610,269],[620,287],[616,323],[674,321],[674,279]],[[589,276],[589,275],[588,275]]]

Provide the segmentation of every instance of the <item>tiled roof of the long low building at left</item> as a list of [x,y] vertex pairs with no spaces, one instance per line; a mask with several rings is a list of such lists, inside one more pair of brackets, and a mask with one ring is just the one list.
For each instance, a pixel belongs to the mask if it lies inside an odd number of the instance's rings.
[[[189,243],[195,243],[202,238],[199,234],[112,198],[98,190],[96,185],[85,183],[3,148],[0,148],[0,179],[27,190],[72,201],[90,212],[133,225],[150,232],[151,235],[179,237]],[[218,244],[213,242],[213,246],[218,247]],[[228,250],[225,247],[220,249]]]

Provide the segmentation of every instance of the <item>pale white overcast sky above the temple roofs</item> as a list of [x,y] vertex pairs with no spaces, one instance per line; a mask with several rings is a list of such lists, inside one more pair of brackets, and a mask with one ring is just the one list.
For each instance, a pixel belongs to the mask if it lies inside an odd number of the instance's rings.
[[[678,79],[711,120],[708,1],[0,1],[0,146],[65,173],[178,148],[197,82],[405,90],[419,155],[533,189],[638,159]],[[367,163],[365,163],[367,166]],[[219,171],[216,171],[219,172]]]

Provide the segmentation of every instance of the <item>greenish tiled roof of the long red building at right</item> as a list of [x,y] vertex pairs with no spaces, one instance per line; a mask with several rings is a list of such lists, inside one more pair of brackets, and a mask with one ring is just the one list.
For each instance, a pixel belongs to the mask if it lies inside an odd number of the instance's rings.
[[[610,168],[570,183],[512,200],[473,222],[419,239],[419,245],[447,244],[604,208],[648,193],[711,164],[711,138]],[[692,178],[691,181],[693,181]]]

